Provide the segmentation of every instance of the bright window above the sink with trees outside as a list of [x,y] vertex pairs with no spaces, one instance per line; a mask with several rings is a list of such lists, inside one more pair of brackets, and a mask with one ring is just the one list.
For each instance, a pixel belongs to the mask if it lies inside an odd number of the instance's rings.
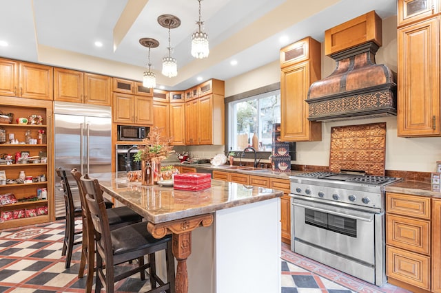
[[256,151],[271,151],[273,123],[280,123],[280,89],[229,102],[228,111],[228,149],[243,151],[256,135]]

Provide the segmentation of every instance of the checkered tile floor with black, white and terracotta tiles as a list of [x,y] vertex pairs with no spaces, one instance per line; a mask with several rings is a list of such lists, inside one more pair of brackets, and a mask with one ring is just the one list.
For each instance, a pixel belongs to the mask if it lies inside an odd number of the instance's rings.
[[[75,247],[72,265],[66,270],[61,257],[63,235],[63,220],[0,231],[0,292],[84,292],[85,278],[77,277],[81,246]],[[291,252],[285,244],[281,261],[282,293],[407,292],[389,284],[376,287],[342,274]],[[148,280],[141,281],[137,276],[119,281],[116,290],[148,290]]]

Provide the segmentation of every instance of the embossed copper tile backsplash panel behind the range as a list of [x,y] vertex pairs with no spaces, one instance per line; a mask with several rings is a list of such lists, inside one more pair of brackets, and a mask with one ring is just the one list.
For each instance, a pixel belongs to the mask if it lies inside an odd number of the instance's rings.
[[386,123],[331,127],[329,171],[366,171],[384,176]]

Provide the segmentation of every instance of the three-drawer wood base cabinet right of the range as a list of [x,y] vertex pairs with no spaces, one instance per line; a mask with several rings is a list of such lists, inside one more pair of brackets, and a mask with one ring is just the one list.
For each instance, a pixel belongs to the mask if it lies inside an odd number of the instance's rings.
[[[389,283],[412,292],[441,292],[440,219],[439,199],[386,194],[386,274]],[[432,231],[436,232],[432,235]],[[437,246],[438,251],[435,251]]]

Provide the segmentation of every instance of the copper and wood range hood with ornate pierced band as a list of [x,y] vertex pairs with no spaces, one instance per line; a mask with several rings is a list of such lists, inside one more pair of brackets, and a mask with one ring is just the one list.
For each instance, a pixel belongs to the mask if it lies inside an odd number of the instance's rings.
[[375,63],[381,29],[380,17],[371,11],[325,32],[325,54],[336,69],[309,87],[308,120],[396,115],[396,74]]

